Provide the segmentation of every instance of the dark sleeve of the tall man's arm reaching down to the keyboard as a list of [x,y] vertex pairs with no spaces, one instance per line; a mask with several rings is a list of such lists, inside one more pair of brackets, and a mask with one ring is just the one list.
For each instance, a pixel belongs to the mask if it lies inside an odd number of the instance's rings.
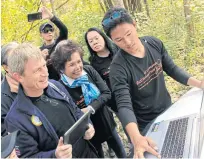
[[128,123],[137,123],[132,101],[130,97],[130,86],[128,84],[128,73],[118,65],[112,64],[110,67],[110,83],[112,92],[118,108],[118,117],[125,128]]

